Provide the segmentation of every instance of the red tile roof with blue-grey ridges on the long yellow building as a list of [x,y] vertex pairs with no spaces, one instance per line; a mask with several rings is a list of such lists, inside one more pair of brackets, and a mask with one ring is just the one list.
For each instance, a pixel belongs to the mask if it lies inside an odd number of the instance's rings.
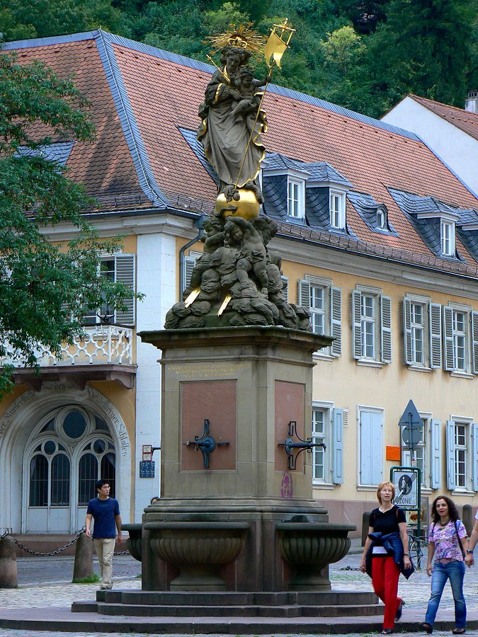
[[[100,197],[142,195],[144,201],[145,193],[151,199],[144,183],[151,183],[172,207],[211,210],[215,183],[178,130],[197,129],[210,67],[103,32],[93,32],[89,39],[80,35],[79,41],[69,36],[72,41],[59,37],[7,45],[18,47],[21,60],[43,59],[58,74],[74,72],[76,85],[93,104],[97,140],[74,145],[67,163],[70,175]],[[411,263],[433,261],[442,268],[387,188],[433,195],[462,208],[478,209],[478,200],[418,137],[281,87],[271,86],[265,106],[268,151],[306,162],[326,161],[353,190],[387,206],[400,236],[372,232],[348,202],[348,224],[359,238],[358,251],[385,250]],[[288,231],[288,224],[284,229]],[[315,239],[323,234],[315,233]],[[469,273],[476,275],[477,262],[459,241],[457,249],[470,264]]]

